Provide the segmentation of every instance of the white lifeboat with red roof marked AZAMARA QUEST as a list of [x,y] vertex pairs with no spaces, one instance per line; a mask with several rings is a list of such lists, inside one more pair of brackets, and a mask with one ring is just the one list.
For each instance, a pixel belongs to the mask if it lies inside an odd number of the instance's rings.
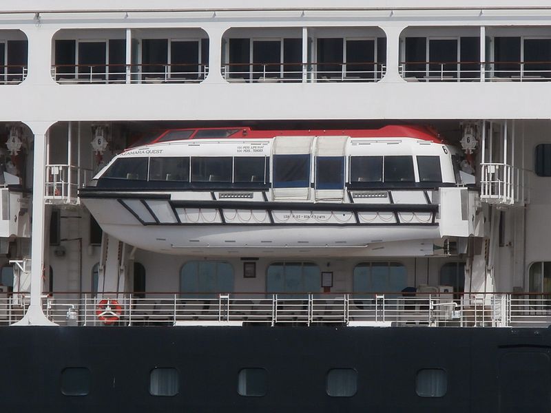
[[147,251],[364,256],[470,235],[458,164],[417,126],[170,129],[116,156],[79,196],[103,231]]

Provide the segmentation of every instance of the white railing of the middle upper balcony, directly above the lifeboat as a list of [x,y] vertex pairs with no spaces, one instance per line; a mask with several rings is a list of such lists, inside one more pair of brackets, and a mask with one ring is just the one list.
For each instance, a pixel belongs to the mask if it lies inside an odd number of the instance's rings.
[[227,63],[222,76],[229,83],[378,82],[382,63]]

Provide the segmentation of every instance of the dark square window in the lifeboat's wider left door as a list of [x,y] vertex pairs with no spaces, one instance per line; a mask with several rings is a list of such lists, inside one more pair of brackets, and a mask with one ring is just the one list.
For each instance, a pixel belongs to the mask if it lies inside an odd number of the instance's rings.
[[310,155],[274,155],[273,187],[306,188],[310,186]]

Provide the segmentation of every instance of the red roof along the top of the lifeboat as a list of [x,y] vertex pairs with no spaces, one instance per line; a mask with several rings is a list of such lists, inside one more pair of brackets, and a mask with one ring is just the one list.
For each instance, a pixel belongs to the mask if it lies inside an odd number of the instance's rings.
[[[275,136],[350,136],[351,138],[414,138],[429,142],[442,143],[437,131],[419,125],[389,125],[380,129],[271,129],[255,130],[250,127],[213,127],[198,129],[167,129],[149,142],[149,145],[160,142],[181,140],[171,139],[174,131],[189,131],[185,139],[269,139]],[[210,134],[209,131],[212,133]],[[222,132],[226,131],[226,134]],[[146,144],[147,145],[147,144]]]

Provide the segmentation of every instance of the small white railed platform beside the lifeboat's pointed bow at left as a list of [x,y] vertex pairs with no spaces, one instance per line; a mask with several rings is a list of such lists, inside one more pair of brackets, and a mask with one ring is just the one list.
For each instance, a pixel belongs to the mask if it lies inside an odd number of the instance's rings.
[[46,165],[45,201],[79,204],[78,190],[92,179],[92,169],[73,165]]

